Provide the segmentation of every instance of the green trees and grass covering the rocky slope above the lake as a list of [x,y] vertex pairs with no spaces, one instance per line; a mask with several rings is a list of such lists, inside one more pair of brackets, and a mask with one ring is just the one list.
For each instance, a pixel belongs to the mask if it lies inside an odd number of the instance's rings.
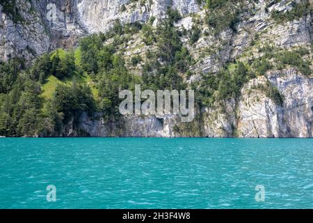
[[[242,10],[240,3],[207,1],[207,10],[211,11],[206,17],[207,24],[216,33],[234,28]],[[207,107],[238,98],[244,84],[273,68],[293,66],[303,75],[312,74],[311,61],[303,59],[310,55],[310,47],[287,50],[267,45],[259,49],[261,57],[232,61],[217,73],[201,74],[199,81],[189,85],[185,79],[193,76],[191,68],[195,60],[182,40],[188,37],[192,45],[202,32],[198,24],[189,34],[180,31],[174,24],[182,15],[170,8],[167,13],[168,18],[156,29],[152,26],[154,18],[147,24],[122,25],[116,21],[109,32],[81,38],[74,50],[57,49],[43,54],[30,68],[24,66],[22,59],[0,63],[0,135],[58,136],[63,134],[68,123],[74,125],[77,132],[86,134],[79,130],[79,118],[83,113],[92,118],[95,112],[100,112],[108,123],[118,123],[118,107],[122,101],[119,93],[122,89],[134,91],[135,84],[154,91],[195,89],[197,105]],[[145,56],[124,56],[126,47],[138,43],[134,38],[141,38],[143,44],[151,46]],[[207,48],[203,52],[215,54],[218,50]],[[141,64],[142,74],[131,73],[127,68],[129,64],[131,67]],[[277,88],[269,83],[261,88],[269,98],[282,105],[283,98]],[[177,132],[201,134],[197,123],[179,125]]]

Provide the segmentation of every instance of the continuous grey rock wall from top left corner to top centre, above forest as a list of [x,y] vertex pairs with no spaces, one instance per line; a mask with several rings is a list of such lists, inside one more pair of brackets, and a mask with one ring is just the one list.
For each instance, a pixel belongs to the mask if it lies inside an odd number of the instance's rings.
[[[12,56],[32,59],[56,47],[72,47],[77,38],[88,33],[107,31],[116,20],[123,24],[155,24],[166,17],[168,7],[182,15],[199,10],[195,0],[12,0],[18,8],[19,21],[0,5],[0,60]],[[15,15],[16,16],[16,15]]]

